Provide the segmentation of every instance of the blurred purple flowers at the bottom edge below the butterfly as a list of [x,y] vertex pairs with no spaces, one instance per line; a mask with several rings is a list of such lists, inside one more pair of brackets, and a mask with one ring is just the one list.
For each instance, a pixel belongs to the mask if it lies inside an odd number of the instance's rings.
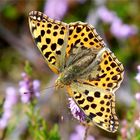
[[[75,130],[76,132],[70,135],[70,140],[83,140],[86,128],[84,126],[77,125]],[[95,140],[95,138],[88,135],[86,140]]]

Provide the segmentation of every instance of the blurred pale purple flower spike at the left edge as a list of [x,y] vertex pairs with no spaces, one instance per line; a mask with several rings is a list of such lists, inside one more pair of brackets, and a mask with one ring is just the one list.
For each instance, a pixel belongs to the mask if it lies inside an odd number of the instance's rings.
[[6,97],[3,104],[3,114],[0,118],[0,129],[4,129],[7,126],[8,121],[12,115],[13,106],[17,103],[17,101],[18,95],[15,88],[8,87],[6,89]]

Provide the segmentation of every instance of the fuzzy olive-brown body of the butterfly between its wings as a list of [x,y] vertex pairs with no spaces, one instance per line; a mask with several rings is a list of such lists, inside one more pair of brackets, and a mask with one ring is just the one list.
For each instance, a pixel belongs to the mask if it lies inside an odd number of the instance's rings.
[[[80,79],[81,76],[86,73],[85,68],[88,69],[88,67],[91,65],[93,60],[95,59],[95,56],[92,55],[90,51],[88,51],[88,54],[85,54],[84,56],[77,54],[77,56],[74,56],[75,61],[72,60],[72,62],[66,66],[63,72],[60,73],[56,85],[59,85],[58,83],[62,83],[63,85],[70,85],[71,82],[74,80]],[[79,52],[80,53],[80,52]],[[81,56],[79,58],[79,56]],[[76,58],[78,57],[78,58]],[[93,67],[92,67],[93,68]]]

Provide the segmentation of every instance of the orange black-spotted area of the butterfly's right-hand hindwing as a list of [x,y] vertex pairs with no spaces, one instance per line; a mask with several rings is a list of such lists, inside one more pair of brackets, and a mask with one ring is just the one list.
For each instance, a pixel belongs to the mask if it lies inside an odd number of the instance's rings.
[[98,69],[94,69],[84,81],[114,93],[123,80],[123,65],[107,48],[102,53],[99,60]]

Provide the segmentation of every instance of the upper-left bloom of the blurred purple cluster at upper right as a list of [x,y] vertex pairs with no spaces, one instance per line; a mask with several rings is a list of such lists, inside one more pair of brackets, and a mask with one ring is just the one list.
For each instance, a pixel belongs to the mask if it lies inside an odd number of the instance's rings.
[[114,18],[116,18],[116,15],[114,12],[109,11],[106,7],[101,6],[98,8],[97,10],[97,14],[99,16],[99,18],[105,22],[105,23],[109,23],[111,24],[114,20]]

